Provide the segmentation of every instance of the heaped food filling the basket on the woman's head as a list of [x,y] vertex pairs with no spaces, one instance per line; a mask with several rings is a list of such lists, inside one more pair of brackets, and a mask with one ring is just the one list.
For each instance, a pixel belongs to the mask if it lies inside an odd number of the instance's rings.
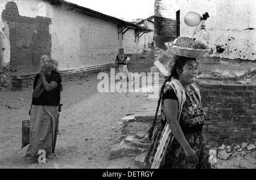
[[181,48],[193,48],[193,49],[209,49],[203,42],[196,40],[196,38],[178,37],[174,41],[175,46]]

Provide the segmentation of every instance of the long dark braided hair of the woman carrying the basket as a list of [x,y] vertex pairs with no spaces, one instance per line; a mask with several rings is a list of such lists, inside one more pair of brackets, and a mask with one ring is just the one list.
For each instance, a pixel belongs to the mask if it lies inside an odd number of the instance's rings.
[[174,55],[174,57],[172,58],[172,61],[174,62],[174,66],[171,67],[171,74],[166,77],[166,80],[164,81],[164,83],[161,87],[159,99],[158,99],[158,106],[156,108],[156,113],[155,113],[155,118],[154,118],[154,121],[152,122],[152,126],[150,127],[150,130],[148,130],[148,138],[150,140],[152,138],[153,130],[154,130],[155,123],[156,123],[156,118],[158,116],[158,109],[159,109],[159,106],[161,103],[163,89],[164,89],[166,83],[170,82],[172,78],[179,79],[179,74],[178,74],[177,70],[180,70],[182,72],[183,67],[185,66],[185,63],[187,63],[188,60],[196,61],[196,58],[187,58],[187,57],[179,56],[179,55]]

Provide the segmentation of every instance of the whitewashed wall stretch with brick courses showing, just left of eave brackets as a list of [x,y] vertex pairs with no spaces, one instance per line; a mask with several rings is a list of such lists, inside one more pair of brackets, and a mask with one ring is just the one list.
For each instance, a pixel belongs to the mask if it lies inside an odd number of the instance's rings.
[[92,18],[85,29],[86,33],[80,31],[80,61],[85,65],[113,62],[114,52],[118,52],[117,25]]

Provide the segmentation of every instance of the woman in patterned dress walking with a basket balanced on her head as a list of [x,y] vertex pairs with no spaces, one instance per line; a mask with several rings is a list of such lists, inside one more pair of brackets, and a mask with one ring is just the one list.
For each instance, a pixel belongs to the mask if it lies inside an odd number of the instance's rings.
[[174,55],[170,65],[171,75],[162,85],[158,101],[158,108],[162,101],[161,124],[152,137],[143,168],[216,168],[208,160],[209,149],[201,132],[204,112],[194,84],[196,58]]

